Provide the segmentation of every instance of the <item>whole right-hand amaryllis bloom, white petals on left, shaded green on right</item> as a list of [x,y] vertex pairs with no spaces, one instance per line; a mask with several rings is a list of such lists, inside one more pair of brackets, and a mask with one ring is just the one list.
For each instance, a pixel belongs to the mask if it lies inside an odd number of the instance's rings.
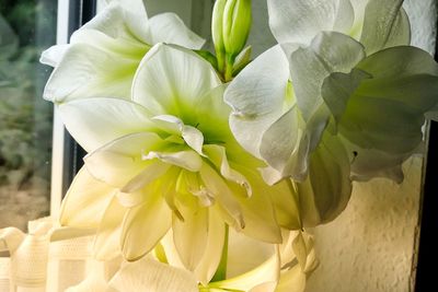
[[438,67],[408,46],[402,2],[269,0],[279,45],[227,89],[231,129],[270,165],[265,179],[304,180],[304,225],[345,208],[350,173],[401,182],[401,163],[420,144],[424,115],[438,102]]

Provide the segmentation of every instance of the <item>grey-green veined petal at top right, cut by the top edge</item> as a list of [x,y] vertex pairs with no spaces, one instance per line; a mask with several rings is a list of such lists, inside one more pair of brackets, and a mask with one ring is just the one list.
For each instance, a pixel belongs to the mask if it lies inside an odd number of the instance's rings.
[[410,20],[402,4],[403,0],[368,1],[360,36],[367,55],[383,48],[410,44]]

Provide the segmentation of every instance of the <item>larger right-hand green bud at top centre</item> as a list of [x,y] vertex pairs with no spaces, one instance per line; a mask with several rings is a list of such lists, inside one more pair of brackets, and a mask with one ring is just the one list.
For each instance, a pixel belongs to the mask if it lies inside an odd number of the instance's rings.
[[251,30],[251,0],[228,0],[223,11],[222,37],[227,55],[234,58],[246,44]]

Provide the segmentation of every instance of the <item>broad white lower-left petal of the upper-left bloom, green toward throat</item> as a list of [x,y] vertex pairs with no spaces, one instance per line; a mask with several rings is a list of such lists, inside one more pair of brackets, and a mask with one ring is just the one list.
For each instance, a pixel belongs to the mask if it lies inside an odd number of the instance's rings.
[[[108,66],[108,59],[115,60],[115,63]],[[62,55],[43,96],[58,103],[99,96],[128,98],[137,66],[138,60],[85,44],[74,44]]]

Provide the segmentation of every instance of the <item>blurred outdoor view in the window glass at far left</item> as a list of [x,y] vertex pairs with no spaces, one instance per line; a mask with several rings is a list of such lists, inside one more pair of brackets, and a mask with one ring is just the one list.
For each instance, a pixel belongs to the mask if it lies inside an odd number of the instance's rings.
[[55,43],[56,3],[0,1],[0,229],[49,211],[53,108],[38,58]]

